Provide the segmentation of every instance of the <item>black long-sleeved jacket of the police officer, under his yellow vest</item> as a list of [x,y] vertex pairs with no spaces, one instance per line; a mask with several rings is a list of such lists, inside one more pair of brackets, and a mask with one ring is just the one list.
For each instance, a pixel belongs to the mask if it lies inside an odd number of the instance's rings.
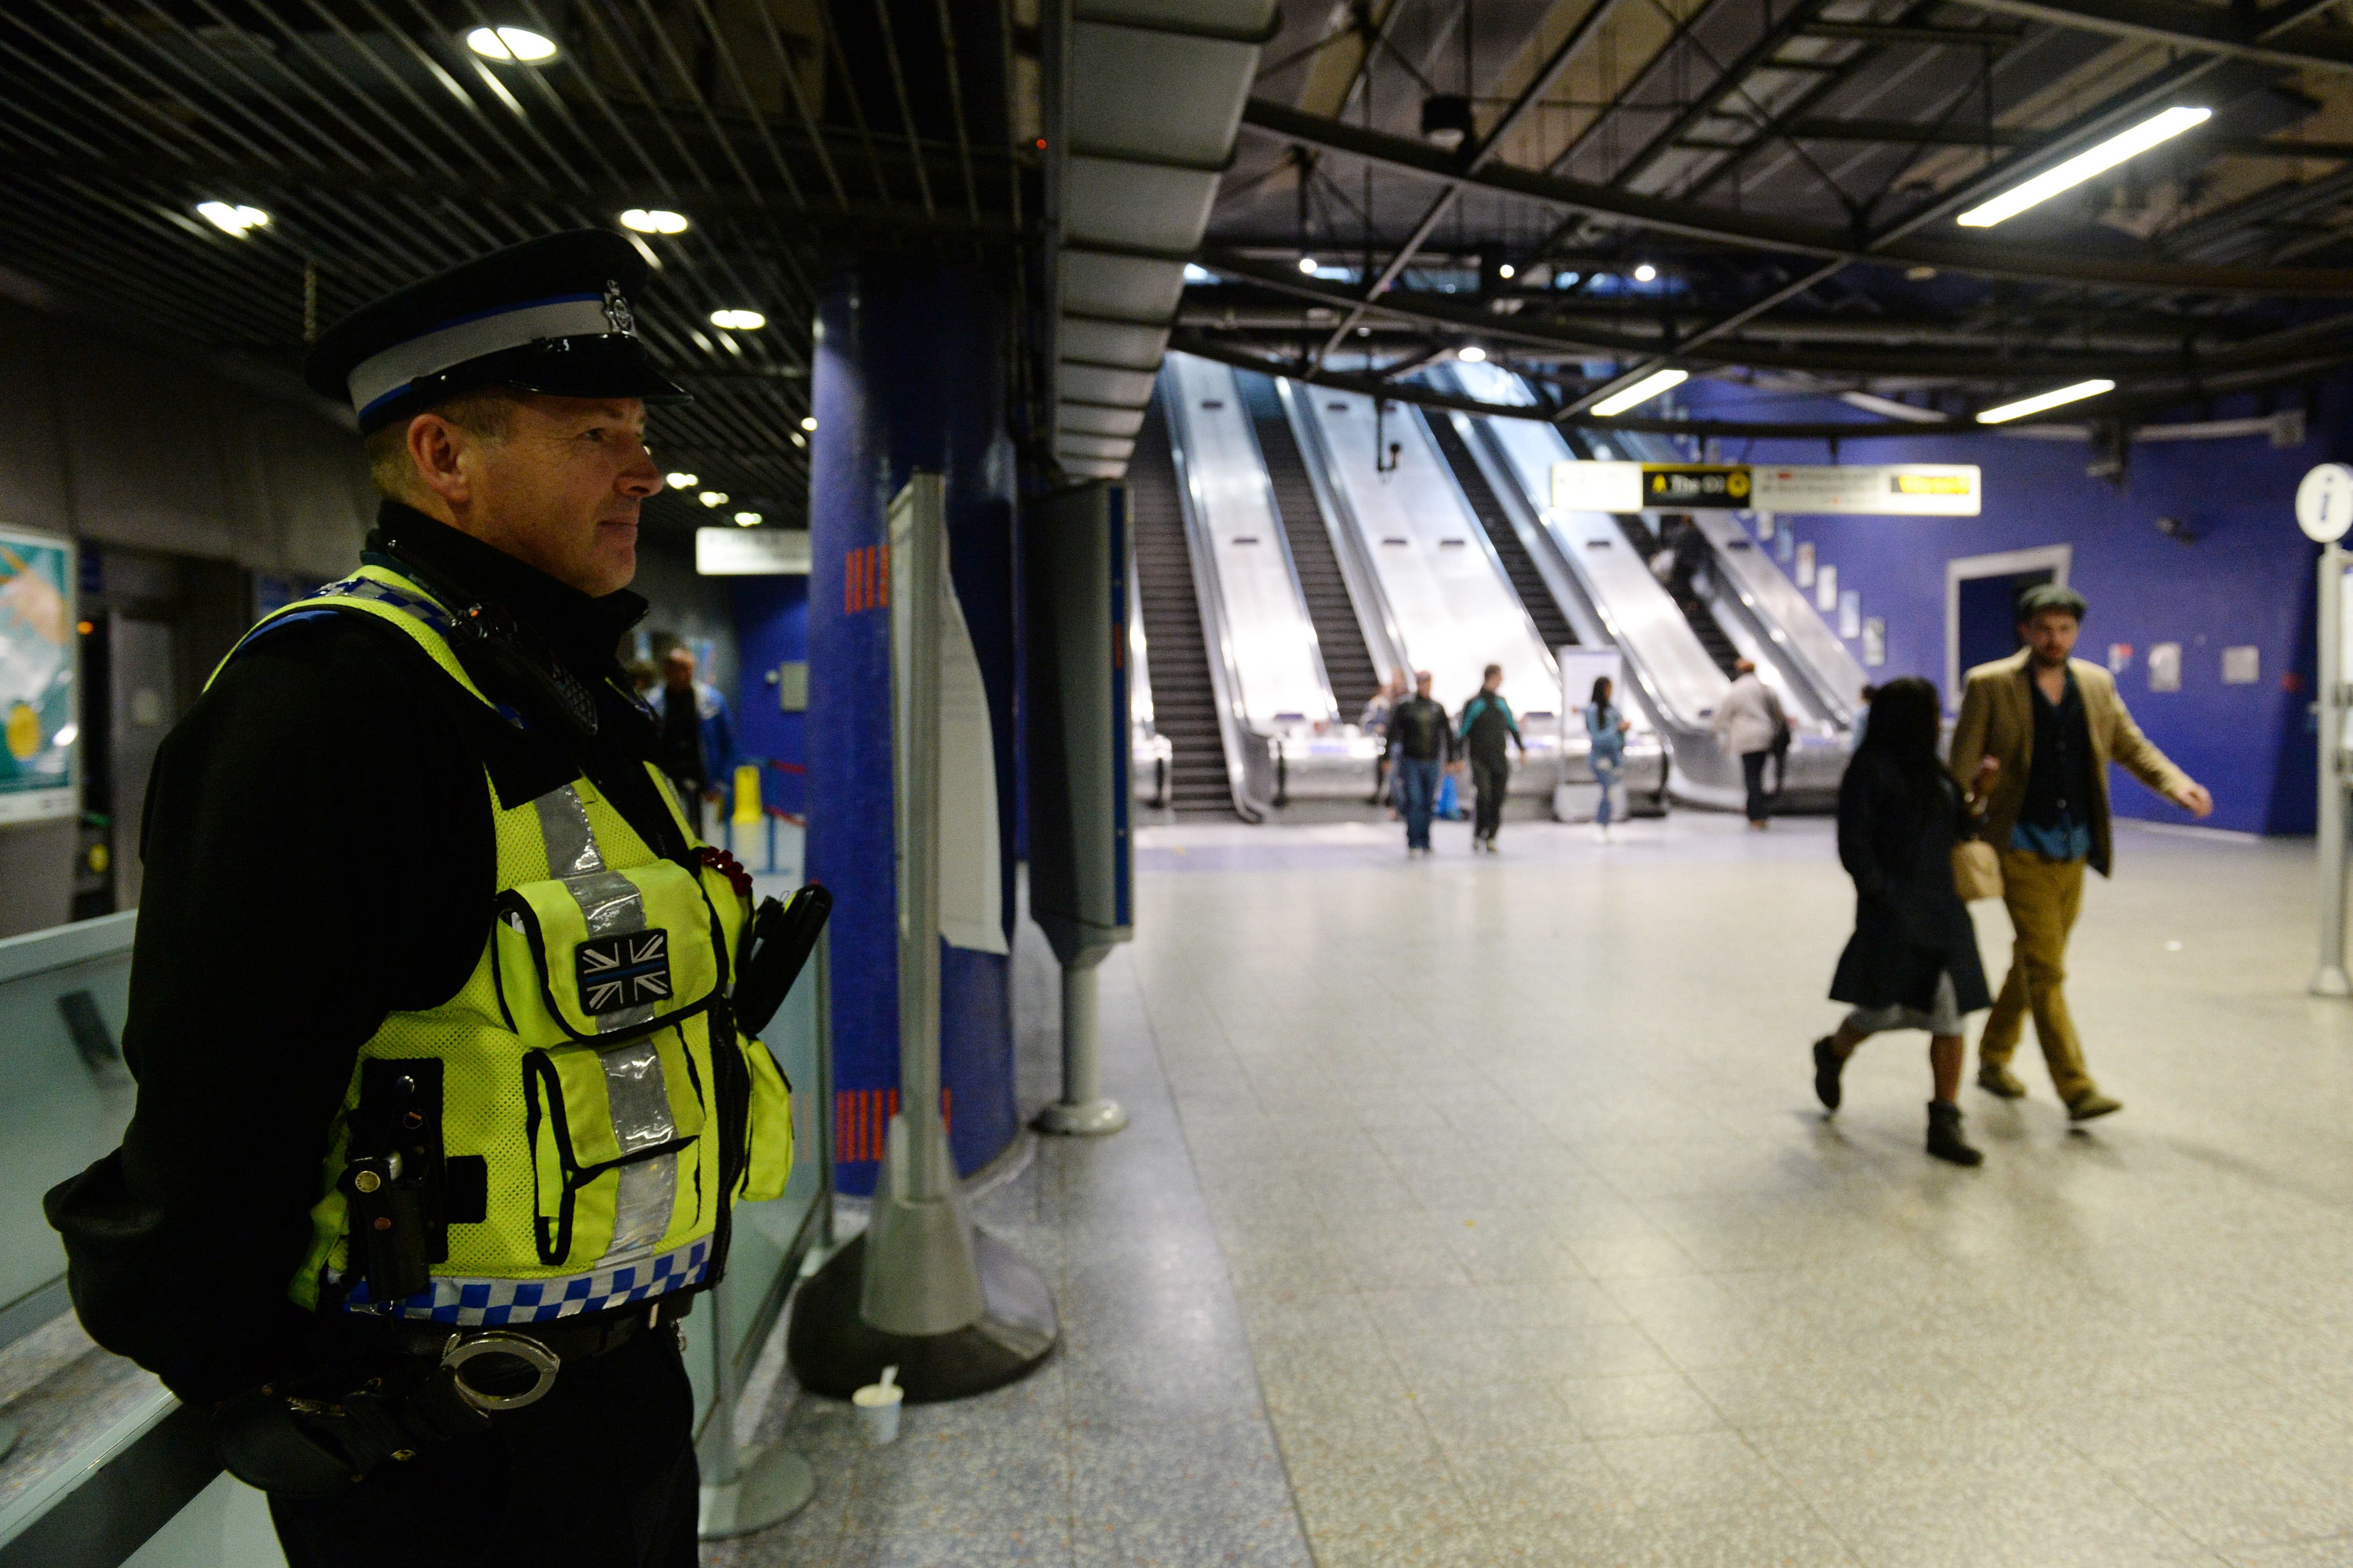
[[285,1295],[329,1121],[384,1016],[447,1001],[482,954],[489,788],[520,804],[586,771],[687,853],[638,762],[652,717],[605,686],[645,599],[591,599],[391,501],[367,543],[506,607],[600,691],[598,736],[485,686],[522,717],[501,719],[400,628],[325,611],[261,632],[165,738],[122,1030],[139,1105],[47,1213],[82,1326],[188,1401],[334,1354],[334,1324]]

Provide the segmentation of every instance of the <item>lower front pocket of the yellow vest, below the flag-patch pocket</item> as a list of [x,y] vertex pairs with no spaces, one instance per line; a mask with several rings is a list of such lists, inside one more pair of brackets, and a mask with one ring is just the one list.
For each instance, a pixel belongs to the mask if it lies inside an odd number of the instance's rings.
[[[522,1056],[539,1262],[614,1262],[701,1229],[704,1072],[687,1034]],[[694,1154],[694,1159],[687,1159]],[[680,1180],[687,1192],[680,1194]]]

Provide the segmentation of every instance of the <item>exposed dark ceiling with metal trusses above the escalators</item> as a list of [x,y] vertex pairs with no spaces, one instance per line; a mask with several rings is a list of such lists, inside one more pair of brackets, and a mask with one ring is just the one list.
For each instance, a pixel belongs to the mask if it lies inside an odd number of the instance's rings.
[[[1574,418],[1668,362],[1965,409],[2097,364],[2122,402],[2353,357],[2353,273],[2313,266],[2353,237],[2332,0],[1367,0],[1294,14],[1268,61],[1209,226],[1224,282],[1184,303],[1188,346],[1264,369],[1395,383],[1475,341]],[[1478,129],[1433,146],[1424,101],[1466,75]],[[2174,101],[2217,118],[1951,226]]]

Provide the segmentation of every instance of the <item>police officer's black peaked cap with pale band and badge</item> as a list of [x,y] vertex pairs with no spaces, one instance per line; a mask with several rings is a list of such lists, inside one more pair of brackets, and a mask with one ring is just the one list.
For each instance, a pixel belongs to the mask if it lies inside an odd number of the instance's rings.
[[638,247],[602,228],[508,244],[360,306],[304,381],[348,400],[362,435],[480,386],[692,402],[638,341],[628,299],[645,277]]

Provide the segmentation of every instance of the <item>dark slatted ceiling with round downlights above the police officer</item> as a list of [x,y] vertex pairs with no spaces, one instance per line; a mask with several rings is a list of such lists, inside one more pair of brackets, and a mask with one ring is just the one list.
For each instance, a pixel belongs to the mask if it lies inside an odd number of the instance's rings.
[[[522,26],[541,66],[461,38]],[[666,209],[638,322],[696,393],[656,458],[802,522],[833,247],[1021,233],[998,0],[19,0],[0,266],[82,315],[292,371],[344,310],[539,233]],[[233,237],[195,214],[268,212]],[[732,331],[713,310],[758,310]],[[647,510],[680,531],[711,512]]]

